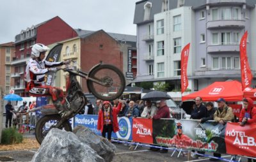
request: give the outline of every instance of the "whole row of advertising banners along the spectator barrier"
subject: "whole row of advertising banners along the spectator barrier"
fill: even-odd
[[[98,115],[76,115],[74,127],[81,124],[101,135],[97,130],[97,120]],[[236,122],[223,125],[212,121],[127,117],[118,117],[118,124],[120,131],[113,133],[112,137],[120,140],[256,157],[256,124],[242,127]]]

